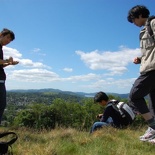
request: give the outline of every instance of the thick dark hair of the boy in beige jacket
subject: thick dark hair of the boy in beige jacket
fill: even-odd
[[[139,15],[141,15],[142,18],[148,18],[150,11],[143,5],[136,5],[129,10],[127,19],[130,23],[133,23],[132,20],[139,18]]]

